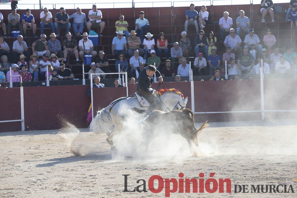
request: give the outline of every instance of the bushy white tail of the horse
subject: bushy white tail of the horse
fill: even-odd
[[[109,112],[109,106],[97,111],[97,115],[92,120],[89,129],[95,134],[108,133],[112,126],[112,118]]]

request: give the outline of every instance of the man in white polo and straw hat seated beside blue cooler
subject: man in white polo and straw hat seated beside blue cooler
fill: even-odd
[[[85,54],[91,54],[95,58],[97,55],[97,52],[94,51],[94,45],[93,42],[88,39],[88,33],[84,32],[83,33],[83,39],[79,40],[78,42],[78,47],[79,47],[79,56],[83,60],[83,64],[85,64]]]

